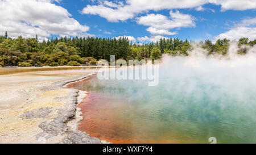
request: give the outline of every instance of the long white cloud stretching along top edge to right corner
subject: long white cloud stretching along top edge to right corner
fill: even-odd
[[[109,22],[118,22],[133,19],[137,14],[149,10],[196,8],[199,11],[214,12],[212,9],[202,7],[207,3],[221,5],[222,11],[256,9],[255,0],[126,0],[125,5],[118,2],[100,1],[98,5],[87,5],[81,13],[99,15]]]

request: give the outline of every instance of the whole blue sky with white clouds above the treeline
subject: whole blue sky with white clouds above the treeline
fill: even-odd
[[[0,0],[0,35],[256,39],[256,0]]]

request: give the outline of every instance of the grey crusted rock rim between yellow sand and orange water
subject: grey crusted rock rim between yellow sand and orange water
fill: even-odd
[[[77,82],[82,79],[88,78],[90,74],[79,78],[68,79],[65,81],[55,82],[51,86],[44,87],[44,90],[61,89],[65,85]],[[66,88],[67,89],[67,88]],[[65,98],[67,103],[63,109],[58,111],[59,116],[51,122],[42,122],[39,127],[43,132],[36,135],[36,140],[49,139],[57,135],[63,136],[63,140],[59,143],[64,144],[100,144],[102,141],[95,137],[90,137],[85,132],[77,130],[78,123],[82,119],[80,116],[80,110],[77,106],[82,102],[82,99],[86,97],[85,91],[71,89],[71,93]]]

